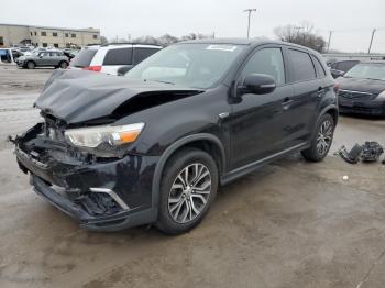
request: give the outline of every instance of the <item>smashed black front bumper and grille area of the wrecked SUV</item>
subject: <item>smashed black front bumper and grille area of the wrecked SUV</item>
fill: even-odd
[[[76,129],[67,130],[75,135],[70,140],[63,121],[44,117],[44,123],[11,140],[19,167],[30,173],[36,193],[91,230],[153,222],[147,179],[156,157],[129,154],[124,145],[76,146]],[[84,135],[77,140],[86,141]]]

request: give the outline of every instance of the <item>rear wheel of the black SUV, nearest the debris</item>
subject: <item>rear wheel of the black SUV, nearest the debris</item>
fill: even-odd
[[[331,114],[323,114],[317,125],[317,133],[310,142],[310,147],[301,151],[305,159],[320,162],[329,153],[334,135],[334,119]]]

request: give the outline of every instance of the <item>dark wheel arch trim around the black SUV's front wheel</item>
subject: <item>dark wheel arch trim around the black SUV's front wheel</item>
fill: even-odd
[[[173,143],[161,156],[154,171],[153,182],[152,182],[152,208],[154,211],[154,217],[157,218],[158,212],[158,201],[160,201],[160,187],[162,173],[167,164],[167,160],[179,149],[185,147],[196,147],[208,152],[218,165],[219,175],[226,170],[226,153],[222,142],[215,135],[209,133],[199,133],[194,135],[188,135],[179,139]]]

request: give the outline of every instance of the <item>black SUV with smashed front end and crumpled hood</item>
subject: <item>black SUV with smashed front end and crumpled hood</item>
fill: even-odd
[[[183,233],[219,185],[301,152],[321,160],[338,120],[321,56],[282,42],[169,46],[124,77],[57,70],[44,123],[12,141],[34,190],[91,230]]]

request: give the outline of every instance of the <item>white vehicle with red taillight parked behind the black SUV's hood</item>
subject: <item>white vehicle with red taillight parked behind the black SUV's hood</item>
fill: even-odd
[[[161,46],[142,44],[87,46],[70,62],[70,68],[118,75],[120,68],[125,73],[160,49]]]

